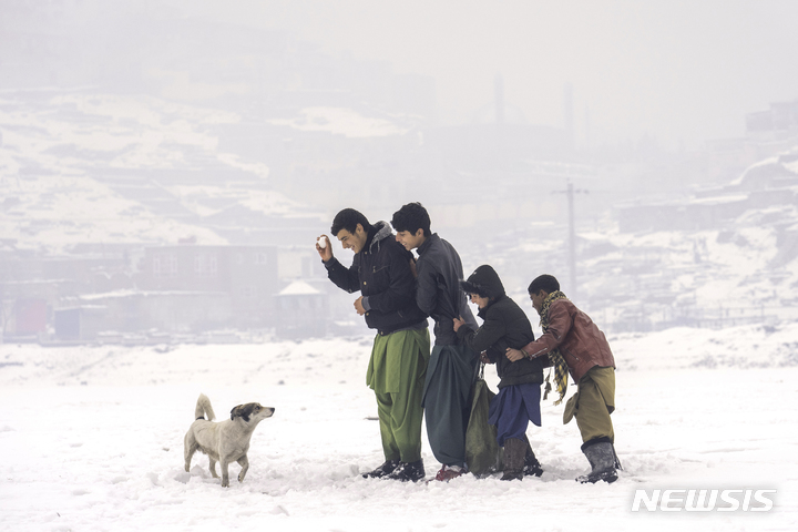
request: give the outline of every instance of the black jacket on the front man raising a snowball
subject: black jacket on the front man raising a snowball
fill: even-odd
[[[332,257],[325,263],[327,277],[339,288],[368,297],[366,325],[380,335],[412,327],[426,327],[427,315],[416,305],[416,278],[410,269],[412,254],[396,242],[390,226],[377,222],[366,245],[346,268]]]

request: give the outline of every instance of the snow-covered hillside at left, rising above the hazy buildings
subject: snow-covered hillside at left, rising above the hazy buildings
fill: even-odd
[[[0,93],[0,238],[60,253],[85,243],[198,244],[226,239],[208,217],[237,205],[301,208],[268,188],[268,168],[218,150],[223,111],[150,96]]]

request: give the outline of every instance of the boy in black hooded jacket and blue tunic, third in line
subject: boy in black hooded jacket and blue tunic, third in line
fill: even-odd
[[[520,349],[534,341],[532,325],[521,307],[507,296],[491,266],[478,267],[460,286],[479,307],[478,316],[483,324],[474,330],[462,319],[456,319],[458,338],[482,354],[482,361],[495,364],[500,378],[489,422],[495,424],[497,441],[504,448],[501,480],[521,480],[524,474],[540,477],[543,470],[526,438],[526,428],[530,421],[541,426],[543,365],[529,358],[511,361],[505,355],[508,348]]]

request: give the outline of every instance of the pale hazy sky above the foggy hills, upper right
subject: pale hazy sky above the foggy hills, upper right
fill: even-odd
[[[177,2],[178,0],[173,0]],[[674,147],[740,136],[745,114],[798,99],[794,0],[200,0],[191,12],[295,31],[332,53],[434,76],[447,123],[505,101],[577,139]]]

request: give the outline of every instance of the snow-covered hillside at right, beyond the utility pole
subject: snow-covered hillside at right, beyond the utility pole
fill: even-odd
[[[797,161],[792,150],[727,185],[637,206],[636,217],[615,206],[615,216],[577,233],[575,300],[615,332],[795,320]],[[519,301],[541,273],[571,291],[566,248],[551,228],[509,232],[474,255],[493,260]]]

